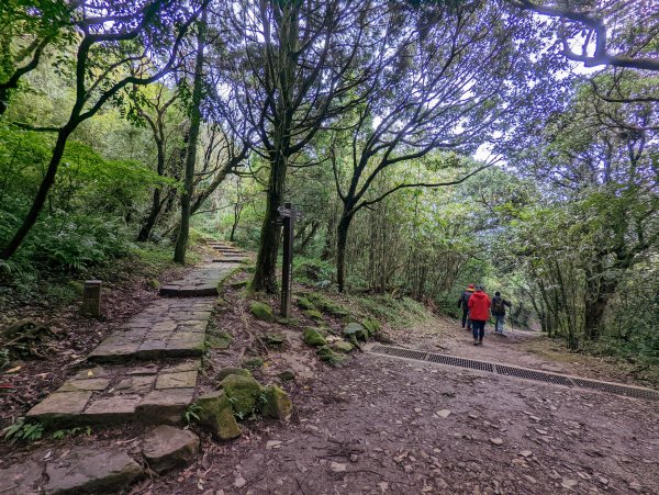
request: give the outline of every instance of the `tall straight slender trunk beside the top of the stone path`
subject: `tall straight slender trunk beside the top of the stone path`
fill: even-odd
[[[188,237],[190,234],[190,216],[192,194],[194,193],[194,166],[197,165],[197,142],[199,140],[199,128],[201,125],[201,97],[203,85],[203,46],[205,43],[205,10],[199,23],[197,34],[197,56],[194,58],[194,81],[192,86],[192,109],[190,113],[190,139],[188,142],[188,155],[186,158],[186,180],[183,194],[181,196],[181,222],[174,251],[174,261],[186,265],[186,252],[188,250]]]

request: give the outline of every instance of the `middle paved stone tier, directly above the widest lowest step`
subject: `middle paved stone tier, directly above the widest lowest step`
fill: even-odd
[[[201,356],[214,304],[210,297],[156,301],[113,331],[88,359],[118,362]]]

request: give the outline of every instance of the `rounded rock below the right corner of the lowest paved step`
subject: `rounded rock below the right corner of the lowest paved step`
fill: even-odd
[[[199,437],[190,430],[160,425],[144,439],[142,454],[158,474],[190,465],[199,452]]]

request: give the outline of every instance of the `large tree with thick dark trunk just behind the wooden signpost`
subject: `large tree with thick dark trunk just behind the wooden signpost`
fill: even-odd
[[[323,125],[355,104],[353,91],[367,67],[357,66],[370,1],[242,1],[228,5],[233,38],[226,57],[225,106],[237,108],[255,134],[254,153],[269,165],[267,205],[253,280],[257,291],[275,292],[280,229],[289,167]],[[382,5],[379,5],[382,7]],[[231,64],[231,66],[230,66]],[[237,69],[236,69],[237,68]],[[236,130],[239,131],[239,130]],[[245,135],[245,134],[244,134]],[[309,165],[309,164],[306,164]]]

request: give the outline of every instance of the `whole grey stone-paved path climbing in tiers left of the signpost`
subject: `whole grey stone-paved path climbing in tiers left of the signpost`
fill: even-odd
[[[172,283],[181,290],[170,294],[182,299],[157,300],[112,333],[88,357],[90,367],[34,406],[27,418],[48,427],[179,423],[194,396],[213,296],[237,267],[205,265]],[[199,292],[206,296],[190,297]]]

